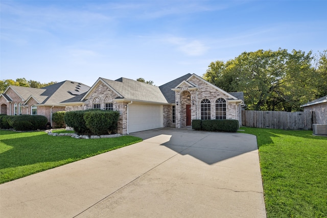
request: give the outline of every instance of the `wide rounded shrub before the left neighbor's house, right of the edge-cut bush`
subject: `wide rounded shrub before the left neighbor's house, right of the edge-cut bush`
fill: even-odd
[[[48,123],[48,118],[42,115],[23,114],[9,119],[9,125],[18,131],[44,130],[46,123]]]

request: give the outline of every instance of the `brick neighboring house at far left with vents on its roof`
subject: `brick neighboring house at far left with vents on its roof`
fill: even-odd
[[[43,88],[9,86],[0,94],[0,114],[43,115],[52,124],[52,114],[65,110],[60,102],[85,93],[89,88],[73,81],[63,81]]]

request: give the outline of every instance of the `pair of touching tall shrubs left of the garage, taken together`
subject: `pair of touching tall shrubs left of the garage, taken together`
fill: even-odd
[[[64,122],[74,128],[78,134],[106,135],[114,134],[118,128],[118,111],[99,109],[67,111]]]

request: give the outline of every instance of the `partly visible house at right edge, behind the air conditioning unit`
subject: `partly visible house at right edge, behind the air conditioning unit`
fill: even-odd
[[[315,112],[313,124],[327,125],[327,95],[312,102],[308,102],[307,104],[301,105],[301,107],[303,107],[303,111]]]

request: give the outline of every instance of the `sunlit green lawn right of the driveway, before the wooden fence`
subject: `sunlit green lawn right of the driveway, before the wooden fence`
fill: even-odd
[[[327,137],[241,129],[257,137],[268,218],[327,217]]]

